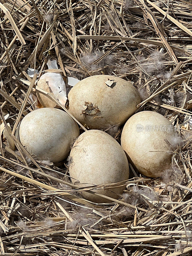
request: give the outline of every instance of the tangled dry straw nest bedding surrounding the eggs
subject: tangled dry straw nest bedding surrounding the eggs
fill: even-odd
[[[182,124],[192,114],[192,3],[1,0],[0,8],[0,255],[191,255],[192,135]],[[40,74],[54,59],[64,76],[130,80],[138,111],[177,127],[180,145],[164,177],[132,170],[119,200],[95,205],[70,187],[67,161],[54,166],[28,154],[14,136],[38,107],[37,75],[27,70]]]

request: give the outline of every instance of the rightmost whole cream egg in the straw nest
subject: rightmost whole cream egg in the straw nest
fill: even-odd
[[[124,125],[121,146],[141,174],[160,177],[170,167],[172,146],[177,138],[174,126],[166,117],[142,111]]]

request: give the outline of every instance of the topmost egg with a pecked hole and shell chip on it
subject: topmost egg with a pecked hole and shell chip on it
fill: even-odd
[[[85,102],[92,105],[92,112],[89,109],[86,114]],[[139,103],[140,95],[130,82],[116,76],[97,75],[73,86],[68,93],[67,107],[81,124],[105,130],[125,123]]]

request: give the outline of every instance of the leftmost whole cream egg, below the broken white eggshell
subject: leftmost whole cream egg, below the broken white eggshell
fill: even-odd
[[[66,112],[40,108],[23,118],[16,136],[31,155],[54,163],[68,156],[71,143],[79,136],[79,128]]]

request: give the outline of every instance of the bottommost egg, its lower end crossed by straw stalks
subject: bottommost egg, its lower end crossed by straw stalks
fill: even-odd
[[[129,165],[123,148],[109,134],[90,130],[82,133],[74,142],[69,156],[71,181],[78,187],[109,184],[129,179]],[[118,186],[118,185],[117,185]],[[92,190],[112,198],[123,193],[125,187]],[[114,193],[114,192],[116,193]],[[92,202],[109,202],[105,198],[87,192],[81,195]]]

